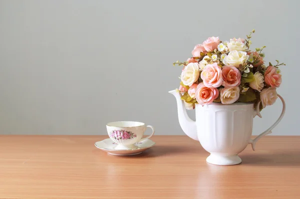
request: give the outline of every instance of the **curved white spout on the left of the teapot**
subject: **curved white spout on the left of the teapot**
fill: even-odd
[[[183,132],[194,140],[199,140],[197,136],[196,122],[189,118],[186,112],[185,105],[181,99],[181,94],[176,90],[170,90],[169,93],[176,97],[178,120]]]

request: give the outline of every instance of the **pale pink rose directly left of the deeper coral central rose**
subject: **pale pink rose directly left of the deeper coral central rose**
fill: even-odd
[[[215,62],[207,64],[201,72],[201,79],[206,87],[218,87],[222,84],[222,69]]]

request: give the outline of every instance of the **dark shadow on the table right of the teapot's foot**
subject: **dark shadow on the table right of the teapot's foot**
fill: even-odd
[[[268,154],[240,154],[242,164],[269,165],[269,166],[299,166],[300,151],[273,152]]]

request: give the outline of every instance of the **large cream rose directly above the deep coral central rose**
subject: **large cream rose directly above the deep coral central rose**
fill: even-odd
[[[229,52],[227,56],[225,56],[225,58],[223,59],[223,63],[225,65],[233,65],[235,67],[238,67],[239,64],[243,64],[248,59],[248,57],[249,55],[247,54],[247,52],[233,50]]]

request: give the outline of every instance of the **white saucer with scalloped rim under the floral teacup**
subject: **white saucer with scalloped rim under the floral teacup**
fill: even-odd
[[[117,146],[117,143],[113,142],[110,138],[95,142],[95,146],[97,148],[100,148],[112,155],[136,155],[152,147],[154,144],[155,142],[151,139],[145,139],[141,142],[135,143],[134,145],[137,146],[135,149],[114,149]]]

